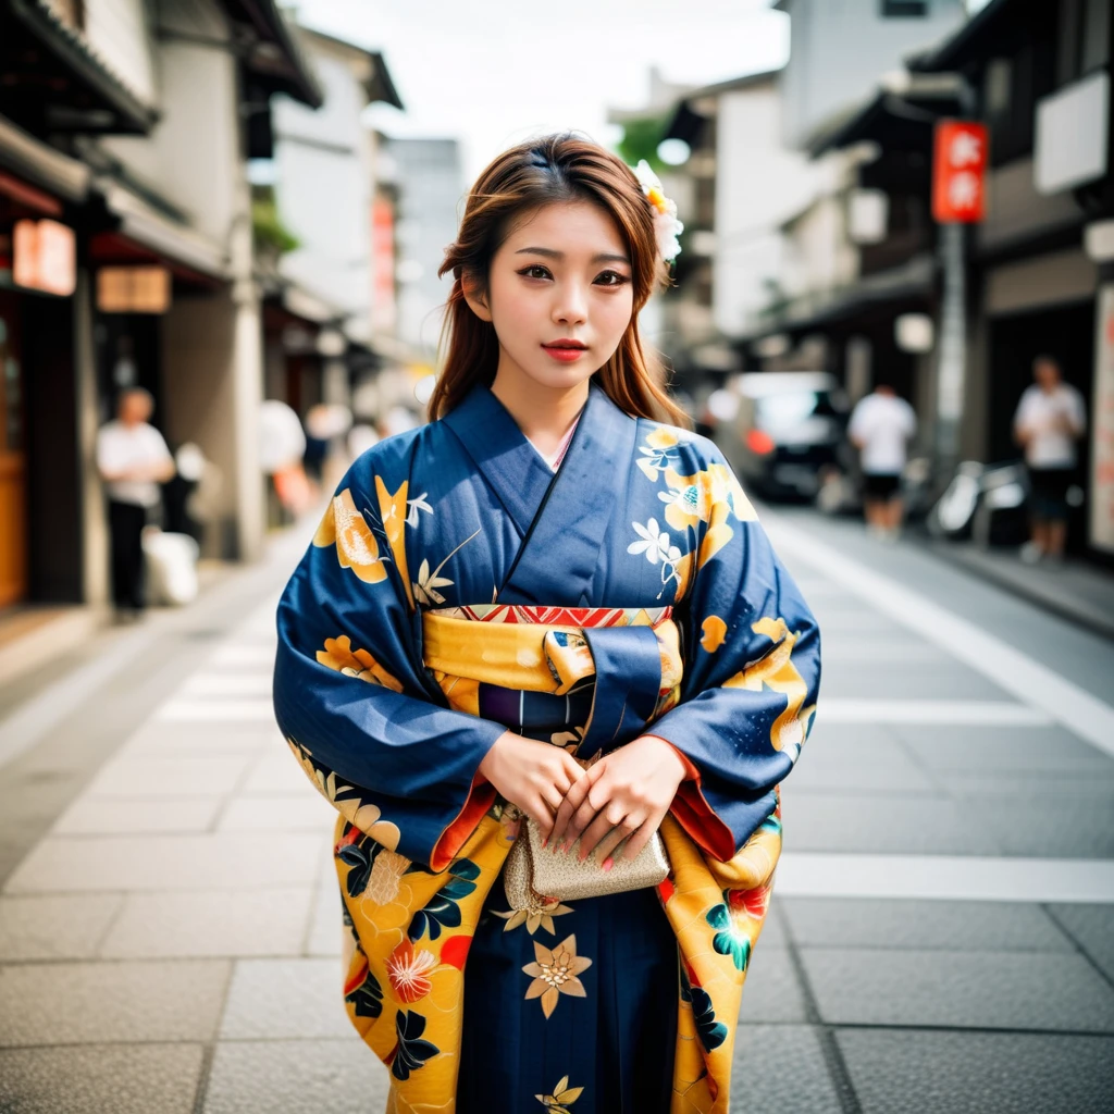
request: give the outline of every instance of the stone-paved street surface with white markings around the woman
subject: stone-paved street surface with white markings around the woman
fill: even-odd
[[[1114,644],[915,543],[763,518],[824,678],[732,1110],[1114,1110]],[[382,1111],[333,812],[271,713],[305,540],[0,701],[3,1114]]]

